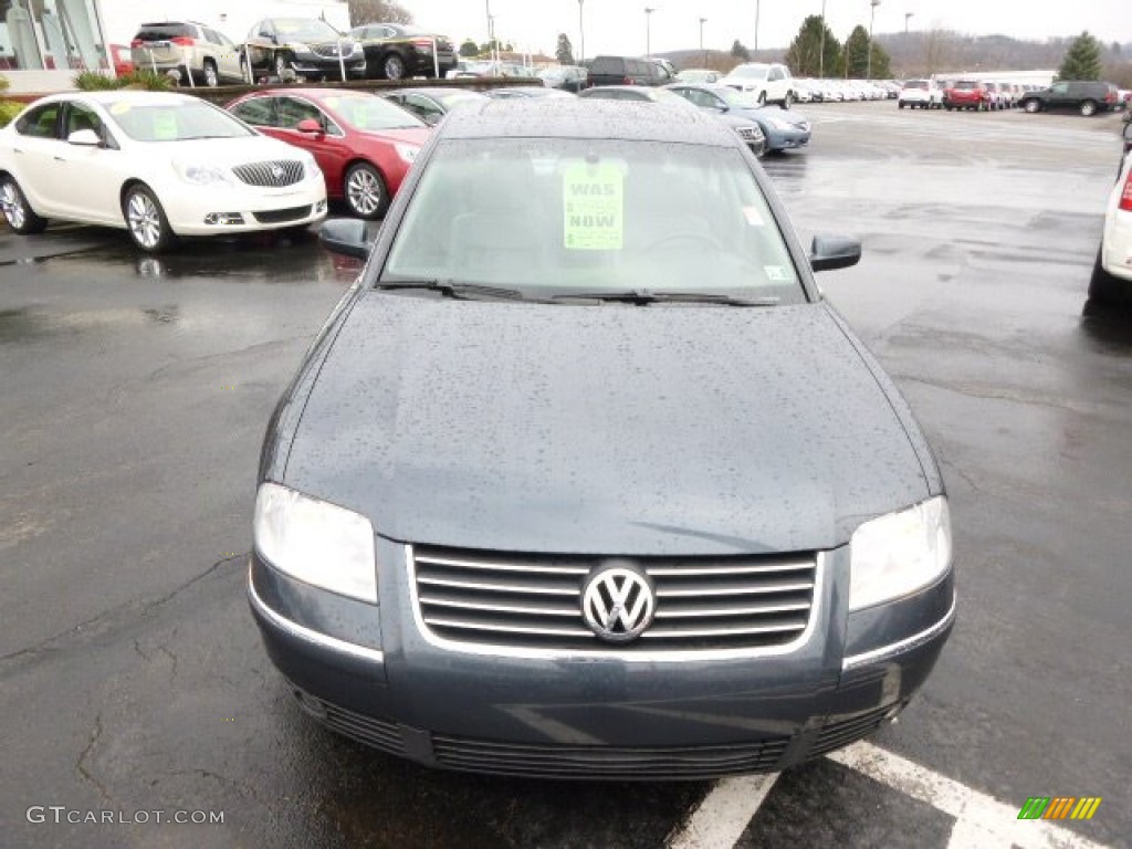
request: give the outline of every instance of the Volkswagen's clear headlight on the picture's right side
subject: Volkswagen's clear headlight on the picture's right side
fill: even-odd
[[[849,542],[849,609],[891,601],[935,583],[951,567],[947,499],[929,498],[858,528]]]

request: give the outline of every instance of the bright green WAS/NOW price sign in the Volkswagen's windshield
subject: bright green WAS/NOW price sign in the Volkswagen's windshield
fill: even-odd
[[[563,172],[566,250],[620,250],[625,243],[625,178],[614,164],[578,163]]]

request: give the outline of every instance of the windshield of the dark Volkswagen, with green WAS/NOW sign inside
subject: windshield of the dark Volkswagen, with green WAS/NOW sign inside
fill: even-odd
[[[618,139],[441,143],[378,285],[412,281],[805,301],[738,148]]]

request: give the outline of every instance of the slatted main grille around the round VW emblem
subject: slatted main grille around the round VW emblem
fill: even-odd
[[[813,554],[631,559],[652,578],[655,618],[635,642],[607,643],[586,626],[583,584],[599,557],[415,548],[417,611],[443,640],[523,650],[633,653],[787,651],[809,623]]]

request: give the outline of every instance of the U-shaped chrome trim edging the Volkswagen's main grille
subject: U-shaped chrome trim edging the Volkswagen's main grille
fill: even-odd
[[[825,560],[826,552],[818,551],[814,563],[814,603],[809,609],[809,619],[805,629],[798,637],[784,645],[775,645],[763,649],[706,649],[704,651],[663,651],[646,650],[633,652],[619,652],[616,649],[604,651],[589,651],[578,649],[516,649],[511,645],[494,645],[489,643],[463,643],[435,634],[424,623],[421,612],[420,598],[417,592],[417,558],[413,555],[412,543],[405,547],[405,574],[409,578],[410,607],[413,611],[413,621],[419,633],[429,645],[445,651],[461,652],[464,654],[478,654],[481,657],[495,658],[525,658],[531,660],[609,660],[626,663],[687,663],[704,660],[747,660],[752,658],[774,658],[791,654],[809,642],[817,628],[817,623],[824,620],[822,615],[822,593],[825,588]],[[581,617],[581,612],[578,612]]]

